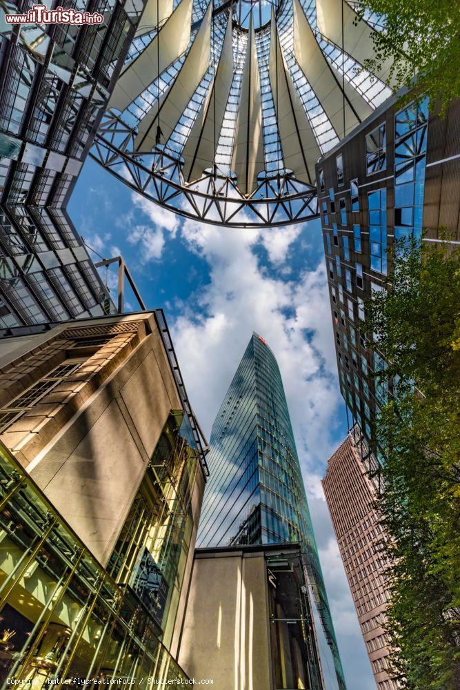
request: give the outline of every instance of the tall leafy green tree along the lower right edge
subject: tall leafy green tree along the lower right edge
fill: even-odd
[[[392,668],[410,690],[460,687],[460,253],[397,246],[390,289],[366,304],[390,389],[374,422],[389,535]]]

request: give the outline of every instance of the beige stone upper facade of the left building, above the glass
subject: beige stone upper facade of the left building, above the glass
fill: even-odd
[[[3,414],[49,389],[0,440],[106,565],[168,415],[182,408],[154,314],[62,324],[3,341],[0,353]]]

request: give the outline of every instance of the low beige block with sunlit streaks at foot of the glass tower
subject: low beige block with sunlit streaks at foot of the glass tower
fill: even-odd
[[[217,690],[323,687],[299,544],[195,551],[179,663]]]

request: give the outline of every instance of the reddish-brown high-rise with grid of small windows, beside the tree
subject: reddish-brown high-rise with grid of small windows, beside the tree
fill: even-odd
[[[385,631],[385,534],[376,510],[377,489],[361,455],[348,436],[330,457],[322,484],[377,688],[395,690],[400,686],[388,675]]]

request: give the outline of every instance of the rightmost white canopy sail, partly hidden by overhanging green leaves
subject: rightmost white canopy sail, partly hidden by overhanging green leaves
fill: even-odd
[[[343,6],[343,50],[361,65],[374,56],[374,29],[366,21],[357,20],[357,14],[345,0],[317,0],[318,28],[326,39],[342,47],[342,6]],[[372,72],[387,83],[392,61],[383,62],[381,69]],[[391,81],[388,84],[391,86]]]

